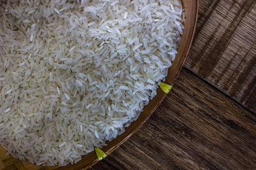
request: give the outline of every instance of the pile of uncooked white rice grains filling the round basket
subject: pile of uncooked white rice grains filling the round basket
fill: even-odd
[[[0,1],[0,141],[63,166],[125,131],[182,34],[179,0]]]

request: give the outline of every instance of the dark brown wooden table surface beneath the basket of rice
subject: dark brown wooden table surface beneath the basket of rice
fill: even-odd
[[[256,169],[255,42],[255,0],[201,0],[172,92],[92,169]]]

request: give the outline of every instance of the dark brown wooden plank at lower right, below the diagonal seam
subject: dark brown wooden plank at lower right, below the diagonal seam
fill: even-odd
[[[145,125],[92,169],[255,169],[255,122],[250,111],[183,69]]]

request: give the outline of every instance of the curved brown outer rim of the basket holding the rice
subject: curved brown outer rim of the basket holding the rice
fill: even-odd
[[[191,0],[186,0],[186,1],[191,1]],[[177,62],[179,64],[177,64],[176,69],[173,73],[173,66],[170,67],[168,69],[168,75],[166,76],[166,80],[164,81],[165,83],[168,83],[169,85],[173,85],[174,81],[177,79],[177,77],[179,76],[179,73],[182,69],[182,66],[184,65],[184,62],[186,60],[186,58],[188,57],[188,53],[189,50],[191,48],[192,42],[193,42],[193,38],[195,36],[195,30],[196,30],[196,23],[197,23],[197,19],[198,19],[198,7],[199,7],[199,0],[193,0],[193,4],[195,4],[194,9],[192,9],[193,13],[192,13],[192,17],[193,20],[191,20],[191,25],[188,25],[190,27],[186,28],[185,25],[185,29],[188,29],[188,41],[183,41],[184,37],[182,35],[181,41],[180,41],[180,45],[183,43],[184,46],[184,52],[182,52],[180,54],[180,47],[178,49],[178,53],[177,56],[175,57],[175,60],[173,61],[173,63]],[[184,4],[182,4],[183,6]],[[188,9],[184,9],[185,11]],[[174,65],[174,64],[173,64]],[[124,143],[127,139],[129,139],[136,131],[138,131],[138,129],[140,129],[140,127],[147,121],[147,119],[152,115],[152,113],[156,110],[156,108],[159,106],[159,104],[162,103],[163,99],[166,97],[166,93],[163,92],[163,90],[161,90],[160,88],[157,89],[157,95],[148,103],[148,105],[150,105],[150,103],[152,102],[156,102],[154,103],[154,106],[152,106],[150,108],[150,111],[145,110],[145,108],[148,107],[145,106],[145,108],[143,109],[143,112],[140,113],[140,116],[138,117],[137,120],[135,120],[134,122],[131,122],[131,125],[129,125],[129,127],[125,128],[125,132],[123,134],[120,134],[119,136],[116,137],[116,139],[113,139],[112,141],[107,141],[106,144],[107,146],[103,146],[101,149],[102,151],[104,151],[106,153],[106,155],[109,155],[111,152],[113,152],[116,148],[118,148],[120,145],[122,145],[122,143]],[[145,115],[145,112],[147,112],[147,115]],[[133,126],[134,124],[138,124],[136,126]],[[127,129],[129,129],[131,132],[127,133]],[[131,130],[132,129],[132,130]],[[90,168],[93,165],[95,165],[99,159],[96,156],[95,151],[89,153],[88,155],[84,155],[82,157],[83,159],[89,159],[90,163],[84,163],[83,161],[79,161],[76,163],[76,168]],[[89,161],[88,161],[89,162]],[[63,166],[63,167],[58,167],[58,169],[73,169],[72,165],[68,164],[67,166]]]

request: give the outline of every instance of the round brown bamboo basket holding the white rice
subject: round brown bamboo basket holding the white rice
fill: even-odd
[[[168,71],[168,76],[166,76],[165,83],[172,85],[177,76],[179,75],[180,69],[182,68],[184,61],[188,55],[189,48],[193,41],[193,36],[195,33],[196,19],[198,15],[198,3],[199,0],[182,0],[182,6],[185,11],[185,22],[184,22],[184,32],[182,39],[180,41],[180,46],[175,60],[173,61],[172,67]],[[125,132],[118,136],[113,141],[107,142],[108,146],[104,146],[102,150],[109,155],[118,146],[120,146],[124,141],[136,132],[141,125],[143,125],[148,117],[156,110],[157,106],[163,101],[166,93],[160,88],[157,89],[157,95],[148,103],[140,114],[140,117],[131,123],[129,127],[125,129]],[[99,161],[95,152],[91,152],[88,155],[84,155],[82,159],[76,164],[68,164],[64,167],[42,167],[36,166],[35,164],[29,164],[27,161],[20,161],[15,159],[10,155],[6,155],[6,150],[0,146],[0,169],[83,169],[92,167]]]

